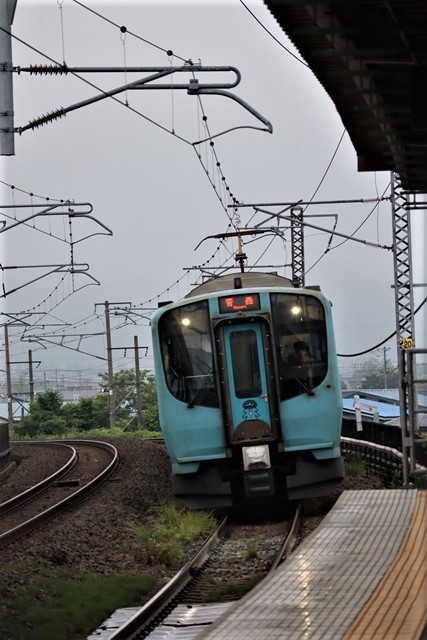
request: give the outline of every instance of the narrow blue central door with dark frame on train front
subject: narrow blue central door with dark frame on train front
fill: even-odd
[[[271,350],[265,324],[253,321],[219,329],[225,422],[231,443],[270,440],[276,435]]]

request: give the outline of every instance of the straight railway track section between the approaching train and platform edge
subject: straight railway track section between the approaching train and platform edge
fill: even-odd
[[[275,525],[275,535],[262,534],[265,525],[230,524],[225,519],[187,564],[149,602],[138,609],[117,611],[90,640],[131,640],[166,637],[171,627],[188,626],[185,637],[211,624],[273,571],[294,547],[302,520],[292,517]],[[267,539],[268,537],[268,539]],[[250,560],[253,560],[251,563]],[[242,565],[248,567],[242,569]]]

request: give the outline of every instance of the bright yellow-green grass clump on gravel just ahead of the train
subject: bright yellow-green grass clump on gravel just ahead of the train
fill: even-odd
[[[167,566],[182,560],[186,546],[214,531],[215,518],[171,503],[153,509],[146,524],[134,525],[135,554]]]

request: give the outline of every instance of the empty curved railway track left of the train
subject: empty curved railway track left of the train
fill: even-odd
[[[0,548],[83,500],[110,477],[119,461],[117,449],[106,442],[63,440],[25,444],[64,447],[69,459],[55,473],[0,504]]]

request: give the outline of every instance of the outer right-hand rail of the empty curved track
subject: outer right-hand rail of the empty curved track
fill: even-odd
[[[113,473],[119,463],[119,453],[113,445],[100,442],[96,440],[65,440],[64,444],[67,445],[81,445],[81,446],[94,446],[107,451],[111,456],[111,461],[108,466],[101,471],[95,478],[90,480],[80,489],[77,489],[74,493],[67,496],[63,500],[60,500],[56,504],[52,505],[48,509],[45,509],[41,513],[35,515],[34,517],[22,522],[17,525],[13,529],[6,531],[5,533],[0,535],[0,548],[6,546],[10,542],[16,540],[21,535],[28,533],[32,529],[35,529],[40,524],[50,520],[53,516],[66,511],[70,507],[76,505],[78,502],[86,498],[92,491],[97,489],[101,484],[103,484]],[[77,452],[76,452],[77,453]]]

